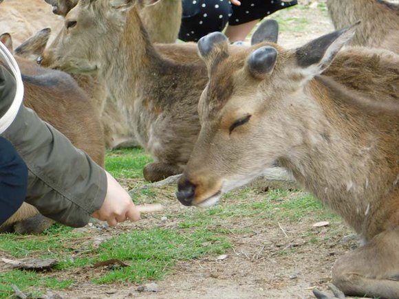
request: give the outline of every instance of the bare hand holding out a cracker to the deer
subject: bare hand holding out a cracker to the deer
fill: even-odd
[[[107,171],[105,173],[107,174],[107,195],[105,196],[103,206],[101,206],[100,210],[94,212],[92,216],[101,221],[107,221],[111,226],[127,220],[138,221],[140,219],[140,212],[134,206],[129,194],[114,177],[107,173]]]

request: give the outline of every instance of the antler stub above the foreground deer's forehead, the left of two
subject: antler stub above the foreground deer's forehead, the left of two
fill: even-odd
[[[228,39],[221,32],[213,32],[200,38],[198,50],[208,67],[228,56]]]

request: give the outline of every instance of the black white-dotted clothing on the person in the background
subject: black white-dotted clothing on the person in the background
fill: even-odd
[[[296,0],[241,0],[241,5],[236,6],[229,0],[183,0],[179,38],[182,41],[198,41],[208,33],[222,31],[227,23],[239,25],[263,19],[296,3]]]

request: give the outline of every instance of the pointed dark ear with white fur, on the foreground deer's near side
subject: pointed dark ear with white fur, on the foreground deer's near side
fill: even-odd
[[[313,78],[330,66],[338,51],[349,41],[360,21],[354,25],[326,34],[296,49],[296,63]]]

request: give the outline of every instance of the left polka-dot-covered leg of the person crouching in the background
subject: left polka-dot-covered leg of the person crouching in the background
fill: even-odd
[[[222,31],[231,13],[229,0],[183,0],[179,39],[198,41],[208,33]]]

